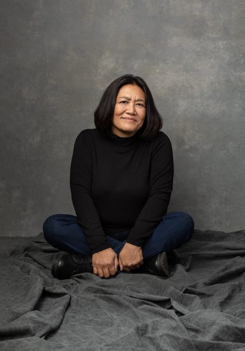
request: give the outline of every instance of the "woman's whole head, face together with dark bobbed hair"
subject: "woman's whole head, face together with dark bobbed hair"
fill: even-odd
[[[162,127],[162,119],[146,82],[140,77],[124,75],[105,90],[94,113],[96,128],[108,126],[122,137],[140,131],[140,138],[150,140]]]

